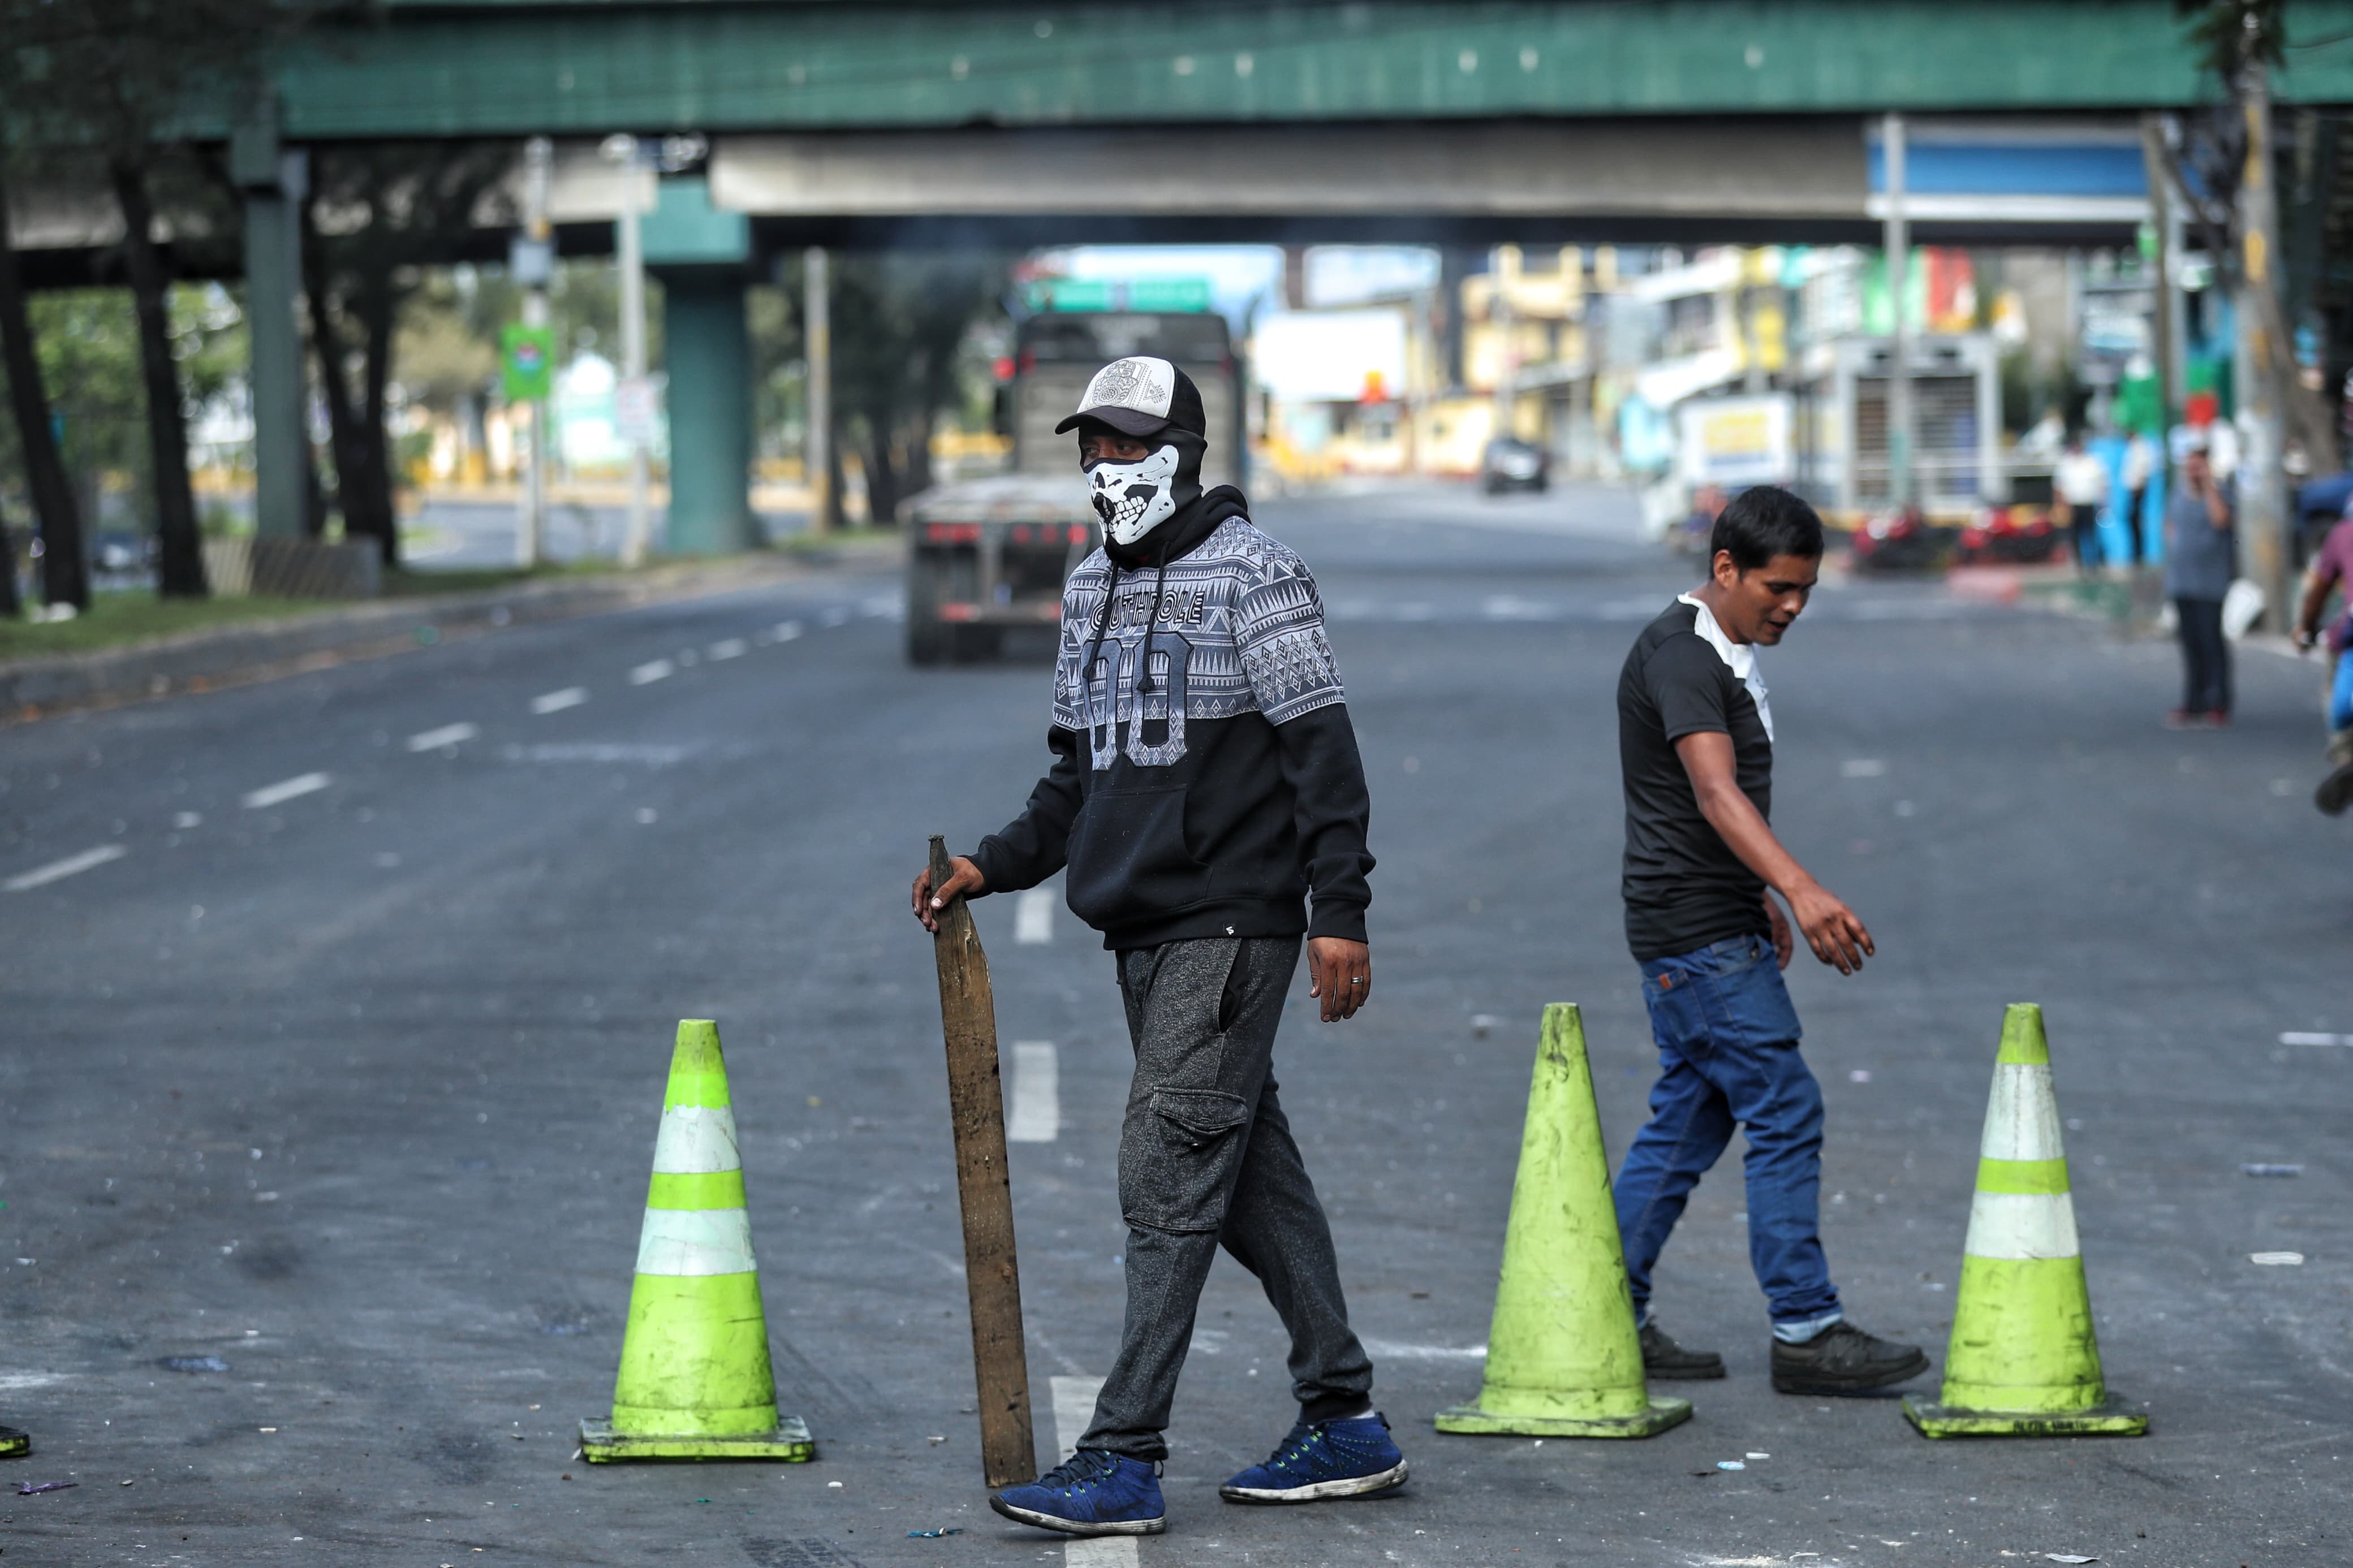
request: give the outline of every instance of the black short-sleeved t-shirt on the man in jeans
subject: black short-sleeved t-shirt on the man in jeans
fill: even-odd
[[[1767,936],[1765,879],[1699,813],[1675,741],[1732,736],[1741,795],[1772,818],[1772,738],[1748,686],[1675,602],[1642,628],[1619,675],[1619,769],[1626,778],[1626,943],[1638,961]]]

